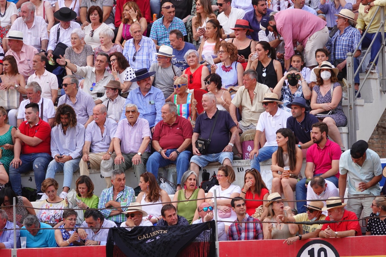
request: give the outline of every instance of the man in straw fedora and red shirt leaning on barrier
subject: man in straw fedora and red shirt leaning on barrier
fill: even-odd
[[[322,208],[322,211],[328,211],[328,216],[325,220],[337,222],[323,224],[319,232],[319,237],[354,237],[362,235],[359,221],[357,221],[357,215],[352,211],[345,210],[345,205],[339,197],[330,197],[327,199],[326,207]]]

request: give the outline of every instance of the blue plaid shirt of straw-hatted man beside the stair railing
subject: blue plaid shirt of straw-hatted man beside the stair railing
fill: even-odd
[[[326,43],[327,50],[331,52],[331,63],[334,63],[337,59],[346,59],[347,53],[354,52],[360,40],[361,32],[352,26],[346,27],[342,35],[338,30]],[[361,49],[362,47],[359,46],[358,50],[361,51]]]

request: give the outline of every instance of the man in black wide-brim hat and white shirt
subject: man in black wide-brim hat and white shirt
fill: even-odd
[[[58,43],[61,42],[66,46],[71,46],[71,33],[74,29],[80,29],[79,23],[72,21],[76,18],[76,12],[68,7],[60,8],[54,13],[54,17],[60,22],[51,28],[49,34],[47,57],[52,58],[54,57],[52,52],[55,50]]]

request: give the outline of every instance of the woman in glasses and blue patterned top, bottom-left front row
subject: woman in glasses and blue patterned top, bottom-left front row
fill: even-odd
[[[78,226],[75,225],[77,216],[78,214],[74,210],[63,211],[62,217],[64,224],[55,230],[57,247],[85,245],[85,243],[80,240],[77,232]]]

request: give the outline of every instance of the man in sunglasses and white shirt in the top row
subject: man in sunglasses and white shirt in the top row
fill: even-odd
[[[225,39],[226,41],[235,37],[235,32],[230,28],[235,26],[236,20],[242,19],[245,15],[245,11],[243,9],[231,7],[231,2],[232,0],[217,0],[218,11],[221,12],[217,16],[217,20],[220,22],[220,25],[224,30],[222,39]]]

